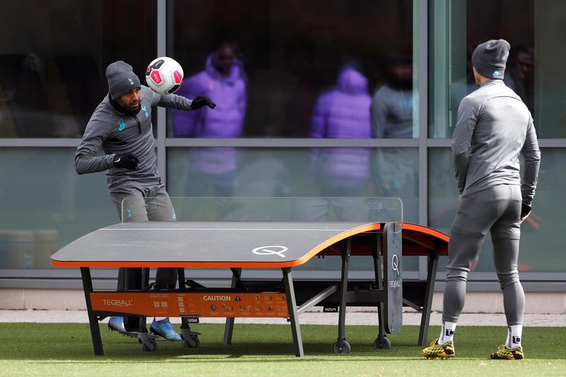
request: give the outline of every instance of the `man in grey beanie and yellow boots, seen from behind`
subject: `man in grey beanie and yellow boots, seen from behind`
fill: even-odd
[[[531,113],[503,82],[509,56],[506,40],[488,40],[472,55],[475,83],[480,87],[463,98],[452,139],[460,204],[452,224],[446,266],[441,333],[422,355],[451,358],[456,323],[466,298],[470,266],[487,232],[503,291],[507,337],[490,357],[524,359],[524,291],[517,260],[521,222],[531,213],[541,153]],[[524,156],[521,180],[519,153]]]

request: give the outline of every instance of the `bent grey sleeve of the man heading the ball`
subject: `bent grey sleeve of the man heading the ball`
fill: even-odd
[[[83,139],[81,139],[75,153],[76,173],[96,173],[114,166],[112,163],[114,154],[96,156],[103,141],[108,137],[108,132],[108,122],[96,118],[91,118],[88,121]]]

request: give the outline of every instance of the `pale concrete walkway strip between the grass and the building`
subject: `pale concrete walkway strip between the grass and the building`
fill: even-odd
[[[377,313],[357,311],[348,308],[347,325],[375,325]],[[304,325],[336,325],[337,313],[321,313],[310,311],[301,314],[301,324]],[[180,318],[171,318],[173,323],[180,323]],[[0,323],[88,323],[86,311],[40,311],[40,310],[0,310]],[[108,322],[103,320],[103,322]],[[224,323],[224,318],[202,318],[201,323]],[[284,318],[236,318],[236,323],[273,323],[287,324]],[[430,325],[440,325],[441,313],[433,312]],[[406,311],[403,313],[403,325],[420,325],[420,313]],[[502,313],[462,313],[458,325],[468,326],[506,326],[505,315]],[[525,326],[566,326],[566,314],[525,314]]]

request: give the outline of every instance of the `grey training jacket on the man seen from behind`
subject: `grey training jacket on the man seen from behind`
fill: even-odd
[[[521,152],[525,158],[523,182]],[[452,155],[462,195],[495,185],[521,185],[523,202],[533,202],[541,163],[533,118],[521,98],[502,80],[485,81],[463,98]]]

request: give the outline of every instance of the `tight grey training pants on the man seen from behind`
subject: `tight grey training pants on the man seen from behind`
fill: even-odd
[[[507,325],[523,323],[525,295],[517,270],[521,199],[519,185],[497,185],[462,197],[450,232],[442,320],[458,322],[468,272],[490,231]]]

